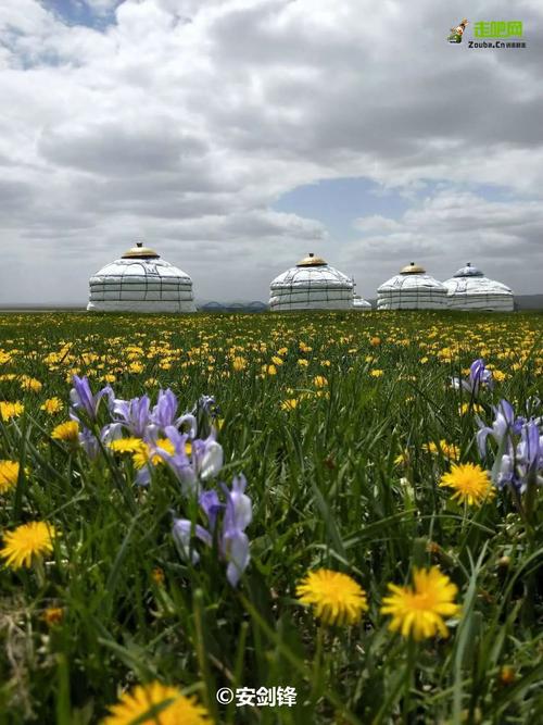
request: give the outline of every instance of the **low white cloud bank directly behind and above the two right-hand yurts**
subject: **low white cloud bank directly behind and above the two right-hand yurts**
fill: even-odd
[[[369,295],[411,261],[422,263],[439,279],[472,261],[517,291],[541,289],[540,201],[489,201],[446,188],[426,197],[400,220],[374,215],[355,220],[354,226],[363,234],[342,249],[341,261],[358,273]]]

